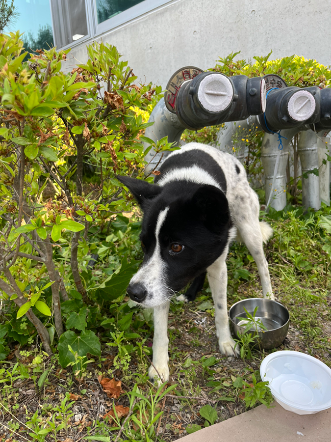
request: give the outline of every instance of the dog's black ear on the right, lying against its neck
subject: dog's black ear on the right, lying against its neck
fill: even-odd
[[[225,194],[214,186],[202,186],[193,196],[197,214],[208,230],[221,233],[229,223],[229,204]]]

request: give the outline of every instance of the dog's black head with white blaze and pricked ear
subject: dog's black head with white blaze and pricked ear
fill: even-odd
[[[225,194],[214,186],[173,182],[157,186],[119,176],[144,212],[144,261],[127,293],[144,307],[169,300],[203,273],[228,244],[230,217]]]

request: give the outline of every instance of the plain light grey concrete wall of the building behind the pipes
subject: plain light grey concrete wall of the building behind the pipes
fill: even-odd
[[[250,59],[272,49],[271,58],[296,54],[329,65],[330,22],[331,0],[173,0],[100,37],[141,82],[164,88],[180,67],[205,70],[236,51]],[[72,49],[65,70],[86,61],[85,44]]]

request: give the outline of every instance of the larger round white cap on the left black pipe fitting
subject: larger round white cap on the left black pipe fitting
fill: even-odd
[[[224,111],[231,103],[232,98],[232,83],[223,74],[207,75],[199,84],[198,99],[207,111]]]

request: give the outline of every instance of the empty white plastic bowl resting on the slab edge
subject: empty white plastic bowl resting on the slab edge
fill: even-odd
[[[315,414],[331,407],[331,369],[301,352],[280,351],[263,359],[262,381],[285,410]]]

